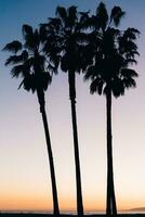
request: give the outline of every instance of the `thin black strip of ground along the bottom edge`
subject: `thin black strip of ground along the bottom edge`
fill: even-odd
[[[106,215],[84,215],[84,217],[105,217]],[[118,214],[118,217],[145,217],[145,214]],[[54,217],[52,214],[24,214],[24,213],[0,213],[0,217]],[[61,214],[60,217],[77,217],[76,215]]]

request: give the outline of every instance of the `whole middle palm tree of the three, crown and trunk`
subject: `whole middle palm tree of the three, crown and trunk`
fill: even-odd
[[[67,10],[62,7],[56,9],[56,17],[50,18],[49,24],[43,24],[48,29],[45,42],[45,52],[51,47],[61,55],[61,69],[68,73],[69,99],[71,106],[75,164],[76,164],[76,186],[77,186],[77,210],[78,215],[83,215],[81,174],[79,159],[77,114],[76,114],[76,72],[79,73],[82,67],[82,41],[84,34],[81,33],[78,12],[76,7]],[[51,40],[50,40],[51,39]]]

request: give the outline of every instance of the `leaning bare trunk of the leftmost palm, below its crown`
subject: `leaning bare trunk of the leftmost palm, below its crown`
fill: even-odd
[[[44,132],[45,132],[45,140],[47,140],[47,148],[48,148],[48,155],[49,155],[49,161],[50,161],[52,195],[53,195],[53,213],[55,216],[58,216],[60,208],[58,208],[58,200],[57,200],[57,189],[56,189],[53,154],[52,154],[52,148],[51,148],[51,139],[50,139],[48,119],[47,119],[47,114],[45,114],[44,92],[38,90],[37,95],[38,95],[38,101],[40,104],[40,113],[42,114],[42,120],[43,120],[43,127],[44,127]]]

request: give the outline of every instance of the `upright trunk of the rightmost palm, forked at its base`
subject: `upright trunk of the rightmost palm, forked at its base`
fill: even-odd
[[[111,91],[106,94],[107,106],[107,216],[117,216],[115,187],[114,187],[114,168],[113,168],[113,136],[111,136]]]

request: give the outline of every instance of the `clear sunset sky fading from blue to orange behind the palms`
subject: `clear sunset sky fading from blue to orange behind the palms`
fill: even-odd
[[[114,166],[119,209],[145,206],[145,1],[106,0],[127,12],[120,28],[135,27],[140,77],[137,88],[113,102]],[[12,4],[13,3],[13,4]],[[0,50],[22,39],[22,25],[37,27],[54,16],[56,5],[95,10],[96,0],[0,0]],[[17,91],[21,79],[4,66],[0,53],[0,209],[52,210],[50,169],[39,105],[35,94]],[[47,114],[62,210],[76,208],[75,162],[67,75],[60,72],[47,94]],[[85,210],[105,208],[106,196],[105,98],[90,95],[89,82],[77,77],[77,115]]]

